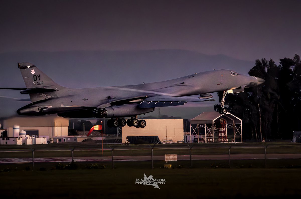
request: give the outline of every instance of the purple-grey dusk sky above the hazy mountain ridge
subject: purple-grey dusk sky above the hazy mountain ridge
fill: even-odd
[[[182,49],[240,60],[301,54],[301,2],[1,1],[0,53]]]

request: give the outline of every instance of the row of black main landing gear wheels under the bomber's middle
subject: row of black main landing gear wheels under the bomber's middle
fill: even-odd
[[[132,117],[129,119],[124,118],[116,118],[116,119],[109,119],[107,122],[108,127],[124,127],[128,125],[129,127],[136,127],[136,128],[144,128],[146,127],[146,121],[145,120],[138,120],[137,116]]]

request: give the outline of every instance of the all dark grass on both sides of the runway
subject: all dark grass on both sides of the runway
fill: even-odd
[[[300,144],[292,143],[238,143],[193,144],[192,155],[264,153],[301,153]],[[82,143],[54,145],[0,145],[0,158],[32,157],[31,152],[18,152],[36,148],[35,157],[101,156],[101,145]],[[151,155],[152,145],[104,145],[114,150],[115,156]],[[170,147],[170,148],[168,148]],[[132,150],[146,148],[147,150]],[[160,149],[165,148],[165,149]],[[167,148],[167,149],[166,149]],[[174,149],[180,148],[180,149]],[[92,150],[91,150],[92,149]],[[50,151],[42,150],[69,150]],[[76,151],[78,150],[78,151]],[[86,151],[80,151],[86,150]],[[5,152],[16,151],[16,152]],[[154,155],[189,155],[188,145],[156,145]],[[105,151],[110,156],[111,151]],[[75,170],[55,169],[58,163],[0,164],[1,198],[287,198],[300,197],[301,160],[268,159],[228,161],[193,160],[172,161],[173,169],[163,169],[164,161],[101,162],[104,169],[87,169],[91,163],[76,162]],[[67,164],[67,163],[63,163]],[[93,163],[95,164],[95,163]],[[27,167],[27,170],[26,170]],[[181,168],[179,168],[181,167]],[[9,169],[8,169],[9,168]],[[8,171],[9,170],[9,171]],[[43,171],[42,171],[43,170]],[[45,170],[45,171],[44,171]],[[160,189],[150,185],[135,184],[144,173],[154,178],[164,178]]]

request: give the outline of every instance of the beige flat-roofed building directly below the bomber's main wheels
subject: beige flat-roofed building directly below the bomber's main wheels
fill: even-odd
[[[146,119],[146,127],[122,127],[122,143],[127,136],[158,136],[162,143],[177,143],[184,139],[183,119]]]

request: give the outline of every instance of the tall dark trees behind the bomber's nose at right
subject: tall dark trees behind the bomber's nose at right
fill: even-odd
[[[271,60],[256,60],[249,75],[265,79],[259,87],[229,94],[231,113],[243,120],[244,139],[292,139],[300,131],[301,61],[284,57],[279,66]]]

